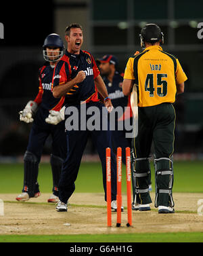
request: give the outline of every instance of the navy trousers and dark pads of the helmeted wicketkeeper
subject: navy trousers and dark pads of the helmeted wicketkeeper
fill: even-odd
[[[45,117],[49,115],[47,109],[39,108],[30,131],[28,147],[24,155],[24,186],[22,191],[30,197],[39,192],[37,182],[39,162],[43,153],[43,146],[48,136],[52,138],[51,170],[53,175],[53,194],[58,196],[58,182],[62,168],[62,162],[66,158],[66,134],[64,121],[57,125],[47,124]]]

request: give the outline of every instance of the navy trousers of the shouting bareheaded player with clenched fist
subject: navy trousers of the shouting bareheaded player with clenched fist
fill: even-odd
[[[89,115],[81,115],[81,105],[74,106],[75,110],[78,111],[78,127],[74,130],[67,130],[68,119],[71,115],[67,115],[66,108],[65,117],[66,117],[66,139],[67,139],[67,157],[64,161],[62,167],[62,173],[60,176],[59,182],[59,198],[62,202],[67,203],[68,199],[72,195],[75,189],[74,182],[76,181],[76,177],[78,175],[78,170],[81,165],[81,158],[83,156],[83,152],[85,150],[85,146],[87,145],[87,139],[91,135],[93,139],[93,143],[95,143],[95,147],[99,154],[99,158],[101,160],[102,166],[102,179],[103,186],[105,192],[105,200],[106,200],[106,147],[110,147],[112,149],[112,137],[110,126],[108,124],[107,130],[102,128],[102,124],[104,122],[108,123],[108,113],[105,109],[104,105],[101,103],[87,103],[86,108],[87,112],[91,109],[91,107],[97,108],[97,113],[91,113],[89,111]],[[102,111],[103,107],[103,111]],[[106,114],[105,114],[105,111]],[[101,114],[103,113],[103,114]],[[90,125],[90,121],[93,120],[93,117],[97,118],[99,121],[99,127],[93,128]],[[75,120],[74,120],[75,121]],[[97,121],[93,122],[96,123]],[[86,129],[84,129],[86,126]],[[88,125],[89,124],[89,125]],[[81,128],[83,126],[83,128]],[[116,158],[114,153],[111,154],[111,171],[112,171],[112,200],[116,200]],[[87,181],[87,186],[91,185],[93,181]]]

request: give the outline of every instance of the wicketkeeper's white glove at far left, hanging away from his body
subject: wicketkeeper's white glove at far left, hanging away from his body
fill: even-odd
[[[26,107],[19,112],[20,114],[20,121],[31,123],[33,122],[33,116],[37,112],[37,103],[35,101],[30,100],[28,101]]]

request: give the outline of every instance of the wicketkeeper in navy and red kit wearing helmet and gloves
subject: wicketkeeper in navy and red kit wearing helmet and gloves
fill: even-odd
[[[51,92],[53,70],[58,60],[62,58],[64,43],[59,35],[50,34],[45,38],[43,45],[43,57],[46,62],[39,69],[39,93],[35,100],[30,100],[23,111],[20,111],[20,121],[33,122],[30,131],[28,147],[24,154],[24,186],[22,194],[16,200],[27,201],[29,198],[40,196],[37,182],[39,162],[43,151],[43,145],[49,134],[52,137],[51,170],[53,175],[53,194],[48,202],[58,202],[58,182],[62,169],[62,162],[66,158],[66,134],[64,122],[58,125],[47,124],[45,121],[51,113],[62,115],[60,109],[64,104],[64,97],[54,98]]]

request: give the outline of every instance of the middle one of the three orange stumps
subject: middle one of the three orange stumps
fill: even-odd
[[[116,227],[120,227],[121,224],[121,205],[122,205],[122,195],[121,195],[121,181],[122,181],[122,149],[117,148],[117,223]]]

